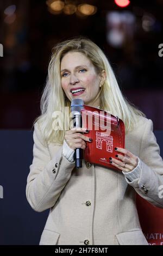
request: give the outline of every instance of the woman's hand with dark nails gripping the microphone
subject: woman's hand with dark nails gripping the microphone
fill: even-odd
[[[68,146],[76,150],[77,148],[85,149],[86,142],[91,142],[92,139],[89,137],[84,136],[82,133],[88,133],[89,130],[86,128],[76,128],[73,127],[71,130],[65,132],[65,141]]]

